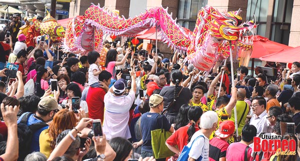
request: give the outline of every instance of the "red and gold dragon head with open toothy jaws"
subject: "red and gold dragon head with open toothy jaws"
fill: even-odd
[[[252,36],[249,35],[255,34],[256,24],[252,20],[242,23],[242,18],[239,16],[240,9],[230,12],[219,12],[211,6],[206,6],[204,9],[209,11],[213,18],[208,25],[212,36],[218,40],[237,41],[238,44],[248,47],[252,45]]]

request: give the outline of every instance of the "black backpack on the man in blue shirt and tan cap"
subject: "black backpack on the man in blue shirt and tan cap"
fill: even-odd
[[[33,134],[37,130],[48,126],[45,122],[27,126],[27,120],[30,115],[32,115],[31,112],[26,113],[22,117],[21,121],[17,124],[17,136],[19,140],[19,147],[21,147],[19,149],[19,158],[17,161],[24,161],[25,157],[31,153],[31,140]]]

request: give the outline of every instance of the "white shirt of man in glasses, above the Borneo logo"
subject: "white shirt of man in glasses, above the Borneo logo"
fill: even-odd
[[[260,133],[268,133],[267,129],[268,129],[268,124],[269,121],[267,120],[267,113],[266,110],[264,110],[258,117],[256,114],[254,114],[251,117],[250,120],[250,125],[253,125],[256,127],[257,129],[257,133],[256,136],[258,137]]]

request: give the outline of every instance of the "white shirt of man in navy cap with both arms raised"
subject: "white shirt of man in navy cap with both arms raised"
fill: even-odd
[[[131,138],[128,120],[129,110],[134,99],[135,93],[132,90],[127,96],[114,96],[109,91],[105,94],[103,132],[106,135],[106,140],[115,137]]]

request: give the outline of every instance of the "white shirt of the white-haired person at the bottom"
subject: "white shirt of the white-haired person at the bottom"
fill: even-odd
[[[203,137],[198,138],[193,143],[188,156],[195,160],[197,160],[201,156],[201,161],[208,161],[209,139],[206,138],[203,133],[201,133],[200,131],[195,132],[192,135],[190,142],[187,144],[187,147],[190,147],[192,142],[200,135],[202,135]]]

